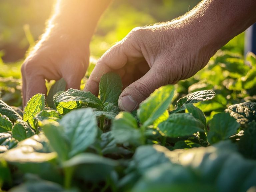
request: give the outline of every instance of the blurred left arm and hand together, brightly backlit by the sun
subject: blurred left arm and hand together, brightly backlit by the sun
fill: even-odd
[[[45,33],[25,59],[23,106],[36,93],[46,95],[45,79],[64,78],[66,89],[80,89],[89,64],[89,44],[111,0],[58,0]]]

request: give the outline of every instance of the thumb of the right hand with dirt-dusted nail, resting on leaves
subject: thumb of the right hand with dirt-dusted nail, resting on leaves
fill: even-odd
[[[121,110],[135,110],[155,89],[167,84],[157,71],[152,67],[143,77],[124,89],[118,100]]]

